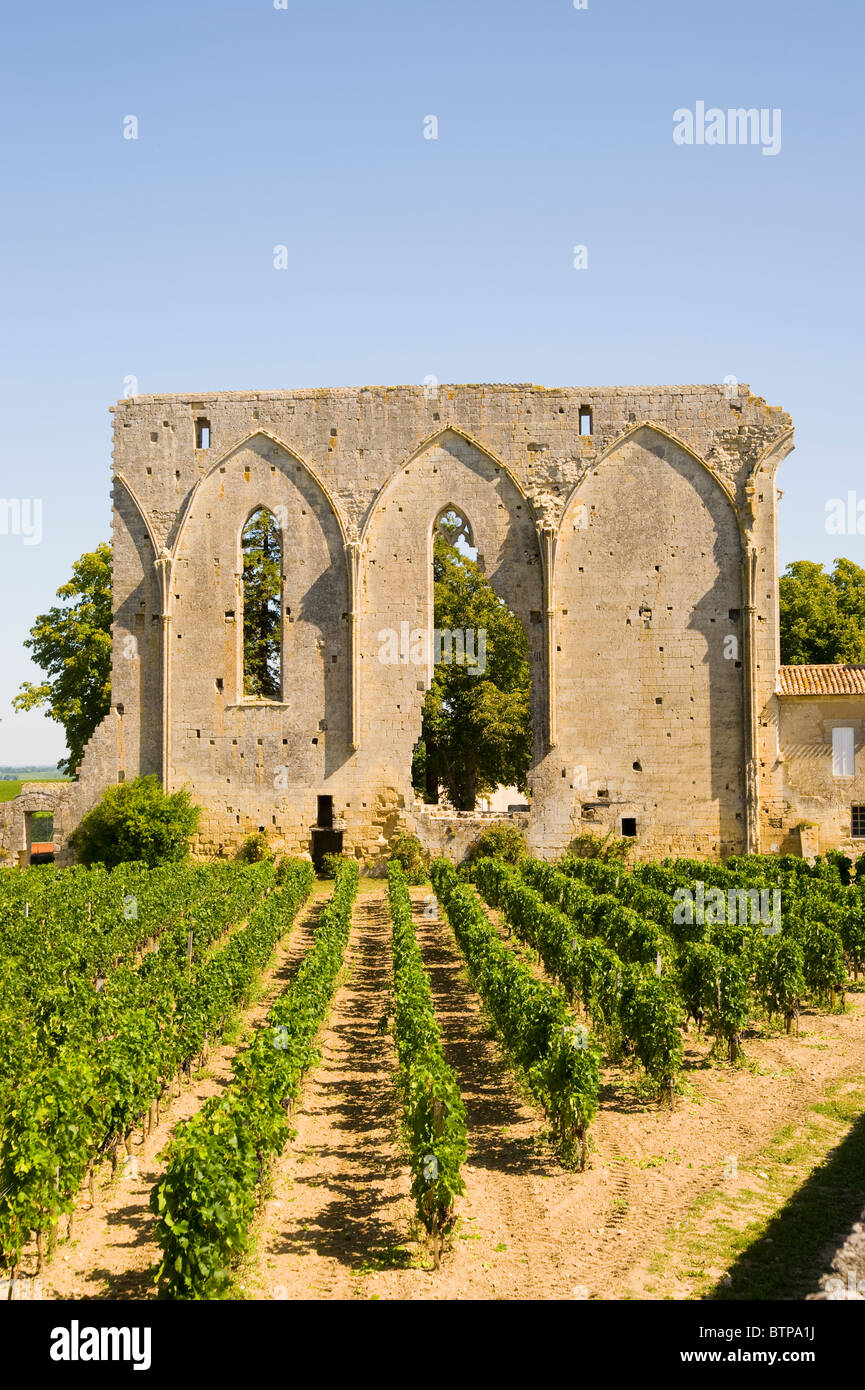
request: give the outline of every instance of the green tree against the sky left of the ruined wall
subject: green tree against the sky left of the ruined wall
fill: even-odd
[[[15,709],[47,706],[63,724],[68,758],[61,771],[76,771],[88,739],[111,706],[111,546],[103,541],[72,566],[54,605],[40,613],[25,641],[46,673],[39,684],[25,681],[13,699]]]

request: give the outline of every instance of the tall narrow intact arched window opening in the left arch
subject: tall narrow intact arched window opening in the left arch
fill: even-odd
[[[282,537],[271,512],[253,512],[241,534],[243,696],[282,698]]]

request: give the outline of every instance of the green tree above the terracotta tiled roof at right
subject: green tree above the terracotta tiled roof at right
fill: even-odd
[[[784,666],[865,662],[865,570],[852,560],[794,560],[780,578]]]

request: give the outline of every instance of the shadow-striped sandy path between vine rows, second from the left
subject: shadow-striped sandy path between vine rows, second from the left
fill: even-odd
[[[396,1144],[391,924],[384,890],[355,903],[321,1061],[292,1113],[241,1286],[257,1298],[350,1298],[373,1262],[407,1259],[410,1179]],[[417,1277],[417,1276],[416,1276]]]

